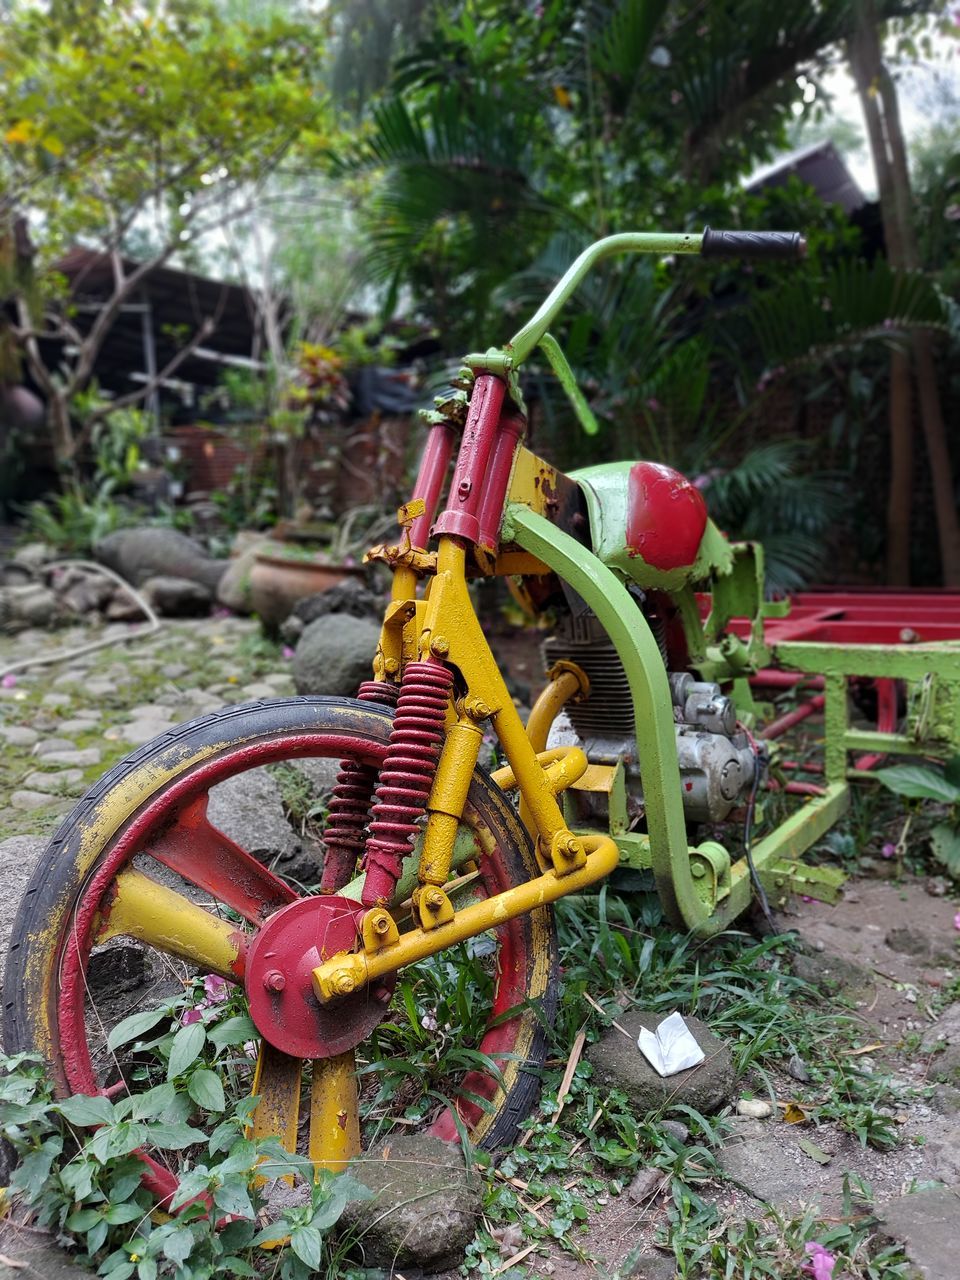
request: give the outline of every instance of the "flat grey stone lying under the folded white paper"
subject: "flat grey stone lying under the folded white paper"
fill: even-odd
[[[685,1018],[705,1059],[699,1066],[676,1075],[658,1075],[636,1047],[636,1038],[641,1027],[654,1030],[663,1018],[662,1012],[639,1010],[622,1014],[620,1023],[628,1036],[611,1027],[588,1050],[594,1076],[607,1088],[622,1089],[641,1114],[667,1108],[671,1103],[685,1103],[705,1115],[719,1111],[736,1087],[730,1050],[699,1018]]]

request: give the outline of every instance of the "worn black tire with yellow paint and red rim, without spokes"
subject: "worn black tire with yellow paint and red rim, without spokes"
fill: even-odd
[[[76,920],[81,908],[95,905],[90,901],[93,892],[90,886],[96,883],[97,869],[102,879],[110,858],[122,856],[124,835],[129,838],[134,823],[146,813],[155,808],[166,812],[163,801],[168,794],[173,796],[172,788],[178,788],[179,799],[170,799],[168,820],[175,822],[177,805],[186,804],[184,788],[196,787],[196,794],[202,794],[215,782],[264,763],[311,755],[338,758],[346,740],[357,759],[375,763],[385,750],[389,732],[390,713],[370,703],[332,698],[250,703],[179,724],[110,769],[63,822],[27,886],[6,960],[8,1052],[40,1053],[56,1091],[78,1092],[77,1082],[83,1073],[74,1061],[76,1044],[63,1042],[63,1015],[58,1012],[61,983],[67,989],[61,974],[67,943],[69,940],[70,947],[82,954]],[[483,769],[474,776],[465,820],[477,841],[485,841],[481,877],[486,891],[495,892],[538,874],[526,831]],[[134,849],[123,855],[114,874],[128,865],[134,852],[142,867],[148,850]],[[100,913],[106,891],[96,892]],[[93,942],[96,937],[91,937],[86,957],[77,961],[84,966],[79,989],[87,986],[86,964]],[[484,1147],[511,1142],[534,1105],[557,1005],[557,942],[549,909],[541,908],[504,925],[498,931],[498,991],[502,995],[504,980],[512,982],[508,1007],[522,1007],[508,1019],[513,1030],[508,1060],[502,1062],[504,1087],[497,1089],[492,1110],[480,1112],[479,1119],[474,1116],[474,1140]],[[502,955],[512,957],[512,968],[517,970],[512,978],[504,979],[499,972]],[[520,1000],[515,998],[517,993]],[[499,1021],[502,1028],[504,1020]],[[498,1043],[502,1042],[500,1029]],[[82,1053],[90,1061],[88,1047]]]

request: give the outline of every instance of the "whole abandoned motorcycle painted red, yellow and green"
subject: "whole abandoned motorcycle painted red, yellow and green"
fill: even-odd
[[[558,980],[549,904],[618,867],[652,872],[668,920],[707,937],[755,888],[774,902],[794,890],[836,895],[836,872],[799,859],[842,813],[851,777],[879,751],[943,755],[960,744],[960,612],[945,617],[948,602],[934,600],[909,643],[895,644],[887,631],[874,643],[876,611],[845,631],[833,598],[791,616],[764,600],[762,549],[730,543],[677,472],[625,462],[567,476],[526,449],[518,379],[539,348],[594,430],[549,328],[600,259],[803,251],[796,233],[612,236],[509,343],[466,357],[426,415],[401,538],[367,556],[393,572],[372,678],[355,700],[260,703],[183,726],[81,801],[18,918],[12,1052],[40,1051],[61,1092],[128,1088],[122,1064],[91,1038],[86,975],[96,948],[138,940],[243,984],[261,1036],[255,1137],[296,1146],[301,1071],[312,1062],[308,1151],[339,1170],[360,1149],[355,1050],[387,1015],[397,972],[486,934],[493,1002],[475,1060],[498,1068],[470,1070],[457,1115],[442,1111],[430,1129],[452,1139],[466,1126],[493,1146],[516,1134],[547,1051]],[[468,591],[470,579],[490,576],[556,622],[548,684],[526,726]],[[851,677],[879,681],[882,732],[850,726]],[[764,730],[763,691],[810,681],[810,699]],[[773,740],[819,710],[823,785],[781,773],[801,803],[750,849],[745,819],[749,832]],[[493,774],[477,768],[488,731],[507,762]],[[849,768],[851,751],[870,754]],[[211,826],[206,795],[224,777],[311,755],[340,765],[321,892],[300,897]],[[150,876],[151,859],[229,911]],[[169,1196],[175,1178],[143,1158],[150,1185]]]

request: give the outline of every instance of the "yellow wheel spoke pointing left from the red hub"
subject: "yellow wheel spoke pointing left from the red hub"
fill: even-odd
[[[218,919],[133,867],[120,872],[115,884],[115,896],[101,913],[97,942],[137,938],[206,973],[233,980],[242,975],[244,937],[238,925]]]

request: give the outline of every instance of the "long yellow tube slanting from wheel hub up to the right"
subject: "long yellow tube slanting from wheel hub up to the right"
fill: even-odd
[[[558,897],[576,893],[609,876],[620,861],[620,850],[609,836],[589,835],[581,836],[580,840],[588,855],[582,867],[576,867],[563,876],[558,876],[550,868],[535,879],[463,908],[445,924],[438,924],[433,929],[411,929],[401,934],[396,942],[376,951],[340,952],[314,969],[314,995],[321,1004],[328,1004],[338,995],[356,991],[403,965],[416,964],[417,960],[456,946],[486,929],[495,929],[517,915],[556,902]]]

